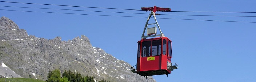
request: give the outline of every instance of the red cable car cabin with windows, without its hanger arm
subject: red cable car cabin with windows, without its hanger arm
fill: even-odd
[[[138,41],[136,73],[141,76],[170,74],[171,71],[175,69],[171,63],[171,42],[172,41],[167,37],[142,39]]]

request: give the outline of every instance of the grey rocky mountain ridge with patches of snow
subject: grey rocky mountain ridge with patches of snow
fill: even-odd
[[[61,37],[47,40],[29,36],[6,17],[0,19],[0,62],[24,78],[31,75],[46,80],[49,71],[60,69],[93,75],[96,80],[155,82],[152,77],[145,79],[132,73],[127,62],[92,47],[84,35],[68,41],[61,41]]]

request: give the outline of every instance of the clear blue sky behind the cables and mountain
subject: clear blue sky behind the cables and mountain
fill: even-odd
[[[6,1],[6,0],[0,0]],[[102,1],[63,1],[63,0],[8,0],[13,2],[75,5],[87,7],[106,7],[122,9],[140,9],[141,7],[169,7],[172,11],[221,11],[256,12],[255,0],[102,0]],[[127,11],[116,9],[59,7],[50,5],[32,5],[3,3],[1,6],[40,7],[80,9],[90,11],[111,11],[150,13],[145,11]],[[83,13],[95,15],[139,16],[148,15],[103,13],[82,11],[61,11],[49,9],[28,9],[0,7],[0,9]],[[235,15],[256,16],[255,13],[188,13],[157,12],[160,14],[180,15]],[[137,41],[141,39],[147,18],[71,15],[56,13],[17,12],[0,10],[0,16],[13,20],[20,29],[29,35],[53,39],[72,40],[85,35],[92,46],[100,47],[107,53],[131,65],[137,61]],[[256,22],[256,17],[225,16],[175,16],[157,15],[162,18],[246,21]],[[152,19],[151,19],[152,20]],[[172,62],[179,69],[165,75],[154,76],[157,82],[256,82],[256,23],[217,22],[196,20],[157,19],[166,37],[172,40]]]

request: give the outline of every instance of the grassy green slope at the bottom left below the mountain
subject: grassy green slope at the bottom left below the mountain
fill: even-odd
[[[5,78],[1,78],[0,82],[4,82]],[[45,82],[43,80],[32,79],[32,78],[6,78],[6,82]]]

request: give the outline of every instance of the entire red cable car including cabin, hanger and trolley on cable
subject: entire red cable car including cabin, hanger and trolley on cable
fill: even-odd
[[[162,33],[157,21],[155,14],[156,11],[170,12],[170,8],[160,8],[160,7],[141,7],[143,11],[151,11],[147,19],[146,25],[144,27],[141,40],[138,41],[138,53],[137,53],[137,69],[131,67],[133,73],[137,73],[141,76],[147,78],[147,76],[153,75],[163,75],[168,77],[174,69],[178,68],[176,63],[171,63],[172,58],[172,41],[165,37]],[[149,19],[153,15],[155,23],[148,24]],[[149,25],[155,25],[152,28],[148,28]],[[157,27],[160,34],[156,34]],[[147,35],[145,36],[145,30],[147,29]],[[157,37],[160,36],[160,37]],[[148,37],[155,37],[149,38]]]

